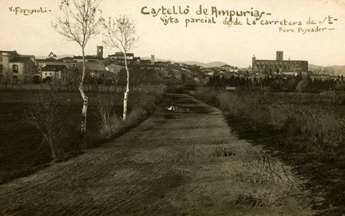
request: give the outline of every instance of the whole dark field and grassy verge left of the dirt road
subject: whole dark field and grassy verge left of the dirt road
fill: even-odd
[[[81,104],[78,92],[1,92],[0,184],[25,177],[52,161],[64,161],[111,141],[144,121],[155,110],[163,90],[132,92],[128,101],[128,119],[121,120],[123,94],[89,93],[86,137],[80,133]],[[99,119],[99,103],[111,101],[108,128]],[[34,102],[32,102],[34,101]],[[44,133],[44,135],[43,135]],[[55,159],[52,159],[52,150]]]

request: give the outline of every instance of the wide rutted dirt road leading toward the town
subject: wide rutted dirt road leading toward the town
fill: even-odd
[[[115,141],[1,185],[0,215],[312,215],[302,197],[221,110],[170,94]]]

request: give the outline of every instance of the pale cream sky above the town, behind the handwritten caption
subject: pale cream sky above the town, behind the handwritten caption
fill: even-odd
[[[57,55],[81,55],[81,48],[75,42],[66,42],[51,27],[61,14],[58,5],[61,0],[1,0],[0,1],[0,50],[17,50],[22,55],[47,56],[50,52]],[[225,17],[215,18],[216,23],[189,23],[185,19],[210,18],[208,15],[197,15],[199,6],[208,9],[215,6],[218,10],[269,12],[259,21],[302,21],[302,26],[255,26],[246,24],[246,17],[239,17],[242,26],[228,27],[223,24]],[[9,7],[36,9],[39,7],[52,10],[28,16],[11,12]],[[164,26],[160,20],[165,15],[141,14],[161,6],[182,9],[189,6],[185,15],[172,15],[179,23]],[[103,17],[117,17],[127,14],[135,21],[139,42],[132,50],[135,56],[150,57],[172,61],[224,61],[232,66],[249,66],[253,55],[257,59],[275,59],[275,51],[283,50],[284,59],[306,60],[309,63],[332,66],[345,65],[345,0],[218,0],[218,1],[171,1],[171,0],[103,0],[100,8]],[[253,10],[251,10],[253,8]],[[316,22],[323,21],[330,15],[337,21],[328,24],[306,25],[309,17]],[[170,15],[168,15],[170,17]],[[234,18],[236,18],[234,16]],[[255,17],[248,17],[253,20]],[[258,22],[259,22],[258,21]],[[297,32],[298,28],[334,28],[322,32]],[[294,28],[295,32],[279,32],[279,27]],[[87,55],[96,54],[96,46],[101,45],[101,35],[91,39],[86,47]],[[104,57],[116,52],[104,48]]]

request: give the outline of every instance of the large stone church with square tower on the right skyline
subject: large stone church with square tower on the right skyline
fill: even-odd
[[[296,72],[308,72],[308,61],[284,60],[283,51],[276,52],[275,60],[252,59],[252,69],[259,72],[272,74],[295,74]]]

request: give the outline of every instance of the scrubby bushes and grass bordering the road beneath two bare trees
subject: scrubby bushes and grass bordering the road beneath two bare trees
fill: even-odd
[[[50,148],[52,159],[62,161],[70,153],[99,146],[137,126],[155,110],[162,95],[163,92],[141,93],[129,103],[128,116],[124,120],[118,95],[98,94],[92,112],[88,113],[89,119],[94,115],[96,124],[90,128],[87,121],[86,134],[81,134],[80,131],[81,115],[61,115],[63,104],[59,103],[54,92],[40,95],[27,111],[24,121],[39,129],[43,135],[42,144],[47,144]]]

